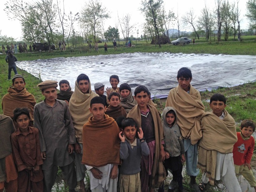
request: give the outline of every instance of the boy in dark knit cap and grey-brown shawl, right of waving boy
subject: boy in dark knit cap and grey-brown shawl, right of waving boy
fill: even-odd
[[[123,83],[119,87],[121,99],[120,104],[124,107],[125,111],[129,111],[137,104],[136,99],[132,96],[131,87],[127,83]]]

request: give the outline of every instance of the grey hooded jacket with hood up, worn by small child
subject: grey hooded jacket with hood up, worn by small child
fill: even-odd
[[[166,114],[168,111],[173,110],[175,113],[175,121],[172,127],[169,127],[166,122]],[[176,110],[172,107],[165,107],[163,110],[163,130],[164,130],[164,151],[170,154],[170,157],[177,157],[185,154],[184,145],[182,141],[180,127],[177,125]]]

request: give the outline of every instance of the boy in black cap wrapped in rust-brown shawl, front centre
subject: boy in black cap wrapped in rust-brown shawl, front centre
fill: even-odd
[[[117,191],[120,164],[119,128],[115,120],[105,115],[106,106],[101,97],[90,102],[90,117],[83,127],[82,164],[90,171],[92,192]]]

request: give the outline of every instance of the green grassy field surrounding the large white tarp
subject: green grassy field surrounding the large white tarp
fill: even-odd
[[[102,44],[103,43],[99,43]],[[110,44],[111,45],[111,44]],[[256,55],[256,41],[242,41],[242,42],[220,42],[220,43],[199,43],[199,44],[189,44],[189,45],[162,45],[162,47],[158,47],[155,45],[147,44],[141,42],[141,45],[136,47],[119,47],[117,51],[115,51],[112,47],[108,48],[108,53],[106,54],[120,54],[120,53],[134,53],[134,52],[170,52],[170,53],[184,53],[184,54],[229,54],[229,55]],[[90,55],[104,55],[104,49],[99,49],[99,53],[94,50],[88,50],[84,52],[83,50],[69,50],[65,52],[54,51],[52,53],[41,52],[41,53],[22,53],[16,54],[15,56],[19,61],[24,60],[37,60],[37,59],[50,59],[56,57],[78,57],[78,56],[90,56]],[[8,64],[5,62],[5,55],[0,55],[0,102],[2,100],[3,95],[7,93],[7,89],[11,86],[11,81],[7,81],[8,75]],[[40,83],[40,79],[34,77],[26,71],[17,68],[19,74],[22,74],[26,80],[26,88],[32,93],[37,102],[43,99],[41,92],[39,91],[36,85]],[[12,71],[11,76],[14,73]],[[222,93],[227,97],[227,111],[232,115],[237,123],[237,128],[239,124],[244,119],[252,119],[256,121],[256,83],[250,83],[230,87],[230,88],[222,88],[218,90],[214,90],[212,92],[203,92],[201,93],[202,101],[205,105],[205,110],[210,111],[209,104],[207,100],[214,93]],[[159,110],[162,112],[165,106],[165,99],[156,99],[155,103],[158,104]],[[2,108],[0,109],[0,113],[2,113]],[[255,165],[255,157],[253,157],[252,164]],[[200,180],[200,175],[198,176],[198,181]],[[188,185],[185,184],[188,191],[192,191],[189,189]],[[209,189],[209,191],[214,191],[214,189]]]

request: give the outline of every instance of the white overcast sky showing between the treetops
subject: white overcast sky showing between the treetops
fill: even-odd
[[[57,2],[57,0],[53,0],[54,2]],[[62,0],[61,0],[62,1]],[[85,3],[89,0],[64,0],[65,4],[65,12],[68,14],[70,11],[72,11],[73,14],[76,12],[80,12],[82,7],[85,6]],[[210,10],[213,10],[215,7],[215,0],[163,0],[165,4],[166,11],[173,10],[175,13],[175,16],[177,16],[177,12],[179,13],[179,17],[182,17],[187,11],[189,11],[191,8],[194,9],[194,12],[197,16],[201,14],[201,10],[204,8],[205,3],[207,7],[210,8]],[[229,0],[230,2],[236,2],[236,0]],[[246,13],[246,1],[247,0],[240,0],[239,2],[239,8],[241,10],[241,19],[242,22],[240,24],[241,29],[247,29],[248,28],[248,20],[245,17]],[[12,1],[1,1],[0,7],[5,8],[4,4],[8,2],[11,3]],[[26,0],[26,2],[33,2],[33,0]],[[107,19],[104,22],[104,29],[106,30],[109,26],[115,27],[115,23],[118,21],[117,15],[119,14],[119,17],[122,17],[123,15],[130,13],[131,14],[131,23],[136,24],[136,29],[133,30],[133,35],[136,36],[136,30],[139,28],[139,36],[142,34],[141,24],[144,22],[143,15],[139,8],[141,7],[141,1],[140,0],[104,0],[101,1],[102,5],[107,8],[107,10],[110,12],[111,18]],[[2,9],[2,10],[3,10]],[[10,15],[7,15],[6,12],[2,12],[1,16],[1,35],[7,35],[12,36],[13,38],[16,38],[17,40],[22,39],[22,31],[21,31],[21,25],[18,20],[14,20]],[[11,19],[11,20],[8,20]],[[177,28],[177,26],[174,26],[174,29]],[[75,27],[75,29],[78,31],[78,26]],[[185,28],[186,31],[192,31],[190,28]],[[119,29],[120,31],[120,29]],[[120,31],[120,37],[122,38],[122,34]]]

